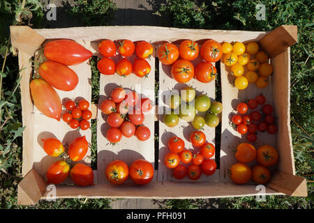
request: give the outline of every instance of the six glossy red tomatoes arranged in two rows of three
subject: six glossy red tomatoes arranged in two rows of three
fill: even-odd
[[[116,45],[117,43],[117,45]],[[154,53],[154,48],[146,41],[133,43],[131,40],[117,40],[114,43],[112,40],[103,40],[98,45],[98,52],[104,57],[97,63],[97,68],[103,75],[114,75],[117,72],[120,76],[128,76],[132,72],[137,77],[147,77],[151,72],[151,66],[147,62],[147,58]],[[136,54],[133,64],[128,60],[128,56]],[[117,64],[111,59],[120,54],[123,56]]]

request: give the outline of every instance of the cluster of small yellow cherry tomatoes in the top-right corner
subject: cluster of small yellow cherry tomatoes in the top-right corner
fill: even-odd
[[[230,66],[231,74],[235,77],[234,85],[239,90],[246,89],[248,84],[255,83],[259,88],[265,88],[269,83],[269,76],[273,66],[267,63],[269,56],[258,43],[223,43],[223,63]],[[246,66],[246,69],[244,69]]]

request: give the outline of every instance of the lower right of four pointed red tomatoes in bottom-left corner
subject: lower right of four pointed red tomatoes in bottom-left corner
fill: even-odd
[[[70,177],[76,185],[87,187],[94,185],[94,173],[91,167],[77,163],[70,170]]]

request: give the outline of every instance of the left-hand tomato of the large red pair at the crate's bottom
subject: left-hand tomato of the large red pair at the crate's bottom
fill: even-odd
[[[128,178],[128,165],[122,160],[114,160],[107,164],[105,174],[110,183],[120,185]]]

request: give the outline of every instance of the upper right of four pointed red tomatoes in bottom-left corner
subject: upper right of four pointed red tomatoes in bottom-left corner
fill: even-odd
[[[77,137],[68,147],[68,156],[73,161],[83,160],[89,149],[85,136]]]

